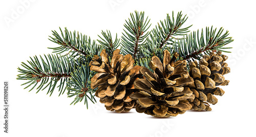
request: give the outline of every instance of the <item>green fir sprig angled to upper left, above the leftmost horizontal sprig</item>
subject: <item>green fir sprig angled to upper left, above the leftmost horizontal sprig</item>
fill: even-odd
[[[90,37],[78,32],[76,34],[75,31],[72,34],[67,28],[65,28],[64,33],[60,29],[61,36],[56,31],[52,31],[52,33],[53,37],[49,36],[49,40],[60,45],[59,47],[49,47],[53,49],[53,52],[63,53],[69,51],[67,54],[71,53],[72,57],[85,56],[92,59],[95,54],[98,55],[102,50],[102,47],[97,45],[95,40],[92,41]]]

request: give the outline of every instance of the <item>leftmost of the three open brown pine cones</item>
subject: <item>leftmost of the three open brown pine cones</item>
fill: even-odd
[[[109,111],[129,112],[137,105],[129,95],[134,91],[134,80],[141,77],[139,66],[134,66],[131,54],[123,56],[116,49],[113,53],[111,62],[105,49],[99,56],[94,56],[90,62],[90,69],[96,71],[91,78],[91,88],[98,87],[95,95],[100,98],[100,102],[105,104]]]

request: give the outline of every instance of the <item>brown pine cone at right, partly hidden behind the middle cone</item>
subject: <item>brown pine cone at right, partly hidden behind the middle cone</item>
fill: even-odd
[[[189,62],[189,75],[194,78],[195,83],[190,85],[190,89],[195,95],[191,105],[196,111],[211,111],[209,103],[216,104],[218,99],[214,95],[222,96],[225,92],[216,86],[228,85],[229,80],[225,80],[224,74],[230,72],[226,61],[228,57],[221,51],[210,52],[210,56],[204,55],[199,61]],[[207,103],[208,102],[208,103]]]

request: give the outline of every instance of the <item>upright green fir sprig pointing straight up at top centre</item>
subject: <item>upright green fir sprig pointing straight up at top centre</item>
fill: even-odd
[[[122,38],[122,47],[121,52],[123,54],[131,54],[136,60],[137,54],[139,52],[139,48],[144,44],[147,36],[150,32],[146,32],[148,28],[150,28],[151,24],[148,25],[150,19],[148,17],[144,20],[144,12],[140,12],[140,14],[135,11],[134,14],[130,14],[131,19],[125,20],[126,23]]]

